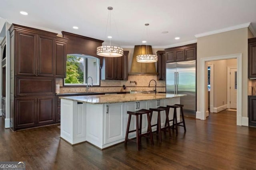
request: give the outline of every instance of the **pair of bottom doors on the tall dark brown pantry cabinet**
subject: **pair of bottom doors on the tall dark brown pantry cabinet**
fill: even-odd
[[[55,123],[55,96],[17,97],[14,103],[14,131]]]

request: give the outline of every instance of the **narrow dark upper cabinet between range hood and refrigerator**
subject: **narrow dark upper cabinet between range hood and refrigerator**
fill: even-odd
[[[166,79],[166,54],[165,51],[157,51],[157,80],[165,80]]]

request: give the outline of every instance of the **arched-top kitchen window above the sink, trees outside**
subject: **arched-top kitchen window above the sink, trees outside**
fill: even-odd
[[[66,86],[86,86],[92,77],[93,85],[100,85],[100,59],[89,55],[68,54],[66,63]],[[88,80],[91,83],[91,79]]]

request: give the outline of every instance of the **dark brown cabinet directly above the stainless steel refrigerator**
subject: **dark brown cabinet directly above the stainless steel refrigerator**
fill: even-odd
[[[196,60],[196,43],[165,49],[166,63]]]

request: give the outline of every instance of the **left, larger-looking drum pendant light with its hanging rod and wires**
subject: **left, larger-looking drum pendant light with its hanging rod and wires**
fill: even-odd
[[[110,27],[110,33],[111,33],[111,10],[113,10],[112,6],[108,7],[109,10],[109,27]],[[107,21],[108,22],[108,21]],[[108,27],[108,25],[107,25]],[[106,35],[105,35],[106,36]],[[121,57],[124,55],[124,50],[121,47],[111,46],[111,38],[112,36],[108,36],[110,45],[103,45],[100,47],[97,47],[97,55],[102,57]]]

